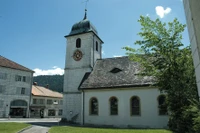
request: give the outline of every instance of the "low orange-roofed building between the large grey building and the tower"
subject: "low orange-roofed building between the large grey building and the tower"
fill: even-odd
[[[30,117],[61,117],[63,95],[48,89],[48,86],[32,86]]]

